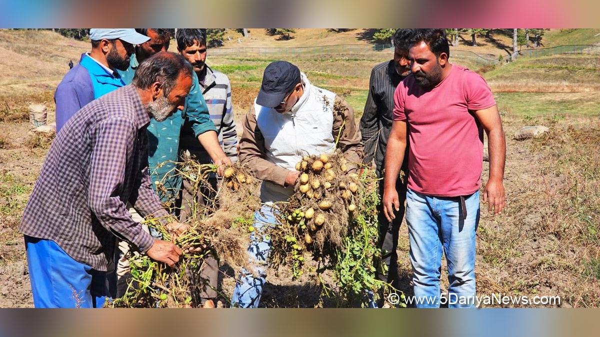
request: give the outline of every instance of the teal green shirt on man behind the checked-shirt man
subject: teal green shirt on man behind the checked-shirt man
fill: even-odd
[[[136,56],[131,55],[130,67],[126,71],[119,70],[125,83],[131,83],[138,65]],[[196,73],[192,74],[192,86],[185,98],[184,110],[178,110],[162,122],[151,119],[148,125],[149,173],[152,181],[160,182],[164,187],[158,189],[157,185],[152,184],[163,202],[174,201],[181,188],[182,180],[176,174],[175,163],[179,160],[179,138],[184,121],[189,125],[191,137],[196,139],[206,131],[217,131],[209,118]]]

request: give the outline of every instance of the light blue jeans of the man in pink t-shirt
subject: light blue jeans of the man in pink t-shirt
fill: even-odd
[[[407,191],[406,222],[417,308],[440,306],[442,249],[448,261],[448,307],[475,306],[479,191],[465,196],[464,201],[467,216],[463,219],[460,198],[431,197],[411,189]]]

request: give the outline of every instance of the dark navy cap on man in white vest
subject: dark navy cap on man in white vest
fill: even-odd
[[[256,103],[274,108],[300,83],[300,70],[286,61],[271,62],[265,68]]]

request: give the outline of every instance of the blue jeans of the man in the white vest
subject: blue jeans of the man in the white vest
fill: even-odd
[[[266,260],[271,252],[271,240],[267,239],[265,231],[268,227],[277,224],[276,210],[271,206],[263,205],[254,213],[254,233],[250,235],[248,255],[250,263],[254,264],[252,271],[242,269],[236,280],[231,305],[238,308],[257,308],[262,294],[262,287],[266,282]]]

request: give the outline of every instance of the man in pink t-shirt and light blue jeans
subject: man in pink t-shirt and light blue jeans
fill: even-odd
[[[483,201],[497,214],[505,203],[502,122],[485,80],[448,62],[442,29],[415,29],[409,45],[412,75],[394,93],[383,209],[393,219],[400,206],[395,182],[408,136],[406,221],[413,289],[421,301],[416,305],[439,307],[446,302],[451,308],[472,307],[483,131],[490,145],[490,179]],[[448,294],[440,294],[442,253],[448,260]]]

